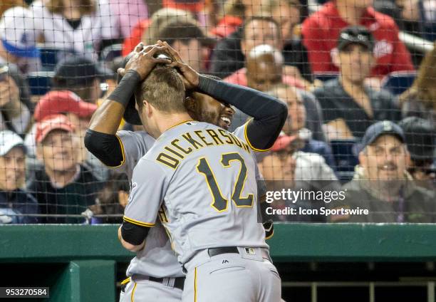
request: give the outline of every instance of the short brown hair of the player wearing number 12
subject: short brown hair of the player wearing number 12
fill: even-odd
[[[175,68],[157,64],[152,72],[142,81],[135,91],[138,108],[142,107],[142,100],[147,100],[157,110],[166,113],[180,113],[186,111],[185,85]]]

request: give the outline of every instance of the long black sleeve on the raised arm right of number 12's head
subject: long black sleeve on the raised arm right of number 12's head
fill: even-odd
[[[287,115],[286,104],[271,95],[241,85],[199,76],[199,90],[219,101],[234,105],[253,117],[247,125],[246,138],[256,150],[267,150],[276,141]]]

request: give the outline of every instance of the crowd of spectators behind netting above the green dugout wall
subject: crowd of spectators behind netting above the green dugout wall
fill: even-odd
[[[121,222],[127,177],[83,137],[123,58],[159,39],[288,105],[258,156],[270,189],[347,191],[273,207],[374,213],[276,220],[436,222],[435,34],[436,0],[1,1],[0,224]],[[230,130],[249,118],[235,110]]]

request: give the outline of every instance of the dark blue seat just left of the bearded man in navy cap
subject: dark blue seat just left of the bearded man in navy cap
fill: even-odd
[[[336,160],[336,172],[341,182],[348,182],[353,178],[354,167],[358,165],[355,152],[356,139],[331,140],[330,145]]]

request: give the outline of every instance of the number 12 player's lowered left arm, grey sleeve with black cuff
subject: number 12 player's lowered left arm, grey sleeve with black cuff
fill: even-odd
[[[118,229],[118,239],[125,249],[139,251],[145,246],[148,231],[155,226],[167,184],[165,172],[157,163],[144,158],[137,163],[123,224]]]

